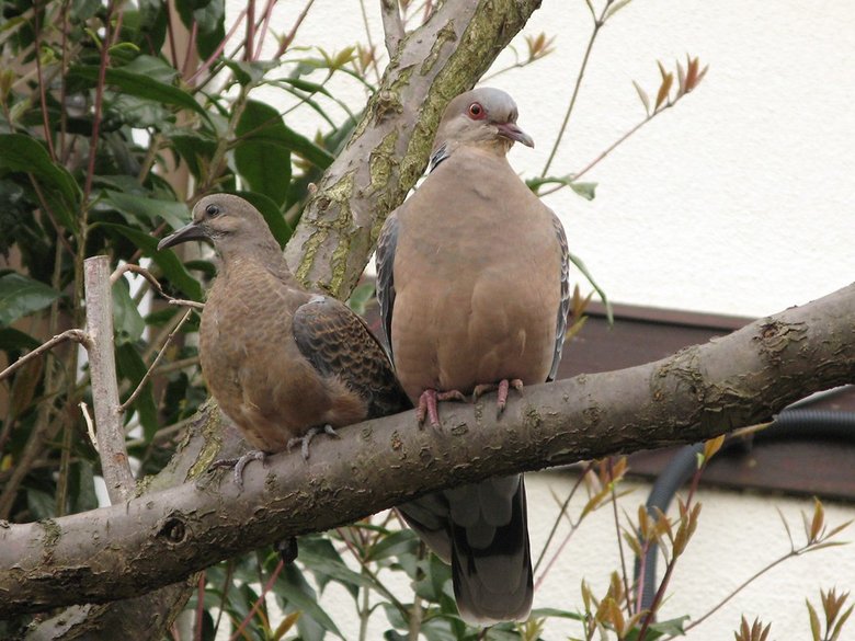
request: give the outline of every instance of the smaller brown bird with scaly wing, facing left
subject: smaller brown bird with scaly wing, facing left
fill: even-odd
[[[193,221],[158,244],[213,242],[220,257],[200,327],[210,393],[255,448],[252,459],[317,434],[410,408],[386,352],[347,306],[294,278],[261,214],[228,194],[205,196]]]

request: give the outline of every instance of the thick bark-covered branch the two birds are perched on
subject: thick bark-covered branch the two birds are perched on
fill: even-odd
[[[323,530],[415,494],[492,474],[694,443],[766,421],[855,381],[855,285],[647,365],[512,396],[444,403],[442,430],[412,413],[126,503],[0,528],[0,617],[138,595],[285,536]],[[203,457],[204,458],[204,457]]]

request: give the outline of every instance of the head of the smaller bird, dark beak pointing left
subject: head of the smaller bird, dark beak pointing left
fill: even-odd
[[[193,207],[193,221],[166,237],[158,250],[189,240],[205,240],[225,256],[235,251],[256,251],[259,247],[276,252],[280,247],[259,210],[231,194],[212,194]]]

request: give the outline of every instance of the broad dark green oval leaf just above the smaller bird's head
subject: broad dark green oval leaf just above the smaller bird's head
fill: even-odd
[[[290,185],[290,150],[284,144],[288,131],[282,116],[272,106],[250,100],[240,116],[236,134],[235,164],[238,173],[251,191],[264,194],[277,207],[282,206]]]

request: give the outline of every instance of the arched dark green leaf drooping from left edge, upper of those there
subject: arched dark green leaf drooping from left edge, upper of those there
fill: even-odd
[[[0,167],[31,173],[39,179],[43,187],[61,195],[64,207],[56,214],[68,229],[77,230],[73,213],[79,207],[82,192],[68,170],[53,162],[41,142],[23,134],[0,134],[0,149],[3,150]]]

